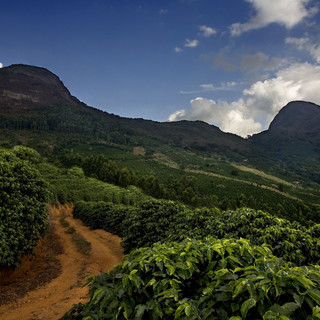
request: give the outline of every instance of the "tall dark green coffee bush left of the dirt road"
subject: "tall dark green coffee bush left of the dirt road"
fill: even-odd
[[[30,254],[47,226],[47,185],[32,166],[29,148],[0,150],[0,267],[14,268]],[[33,158],[32,158],[33,159]]]

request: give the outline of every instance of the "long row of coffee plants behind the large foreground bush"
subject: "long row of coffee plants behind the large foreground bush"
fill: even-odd
[[[259,210],[191,210],[167,200],[149,200],[136,207],[81,201],[75,204],[74,216],[92,228],[121,236],[125,252],[158,241],[214,236],[266,243],[276,256],[296,265],[320,260],[319,225],[307,228]]]

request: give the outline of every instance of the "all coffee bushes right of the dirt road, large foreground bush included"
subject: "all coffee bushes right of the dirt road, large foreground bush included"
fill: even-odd
[[[74,216],[121,235],[129,255],[91,278],[90,301],[65,320],[320,317],[317,224],[166,200],[81,201]]]

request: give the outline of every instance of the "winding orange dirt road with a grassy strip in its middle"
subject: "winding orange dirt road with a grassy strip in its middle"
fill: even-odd
[[[72,218],[70,206],[49,207],[49,211],[50,223],[63,247],[63,253],[56,256],[61,265],[59,275],[23,298],[0,306],[1,320],[57,320],[73,304],[88,300],[88,287],[82,288],[86,276],[110,270],[122,260],[119,237],[85,227]],[[72,235],[61,225],[61,216],[91,244],[88,254],[79,252]]]

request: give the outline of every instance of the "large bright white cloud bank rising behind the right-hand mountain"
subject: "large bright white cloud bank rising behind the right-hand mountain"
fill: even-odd
[[[277,112],[290,101],[320,104],[319,88],[320,65],[295,63],[271,79],[255,82],[236,101],[215,102],[198,97],[190,101],[190,110],[179,110],[168,120],[203,120],[225,132],[247,136],[267,129]]]

